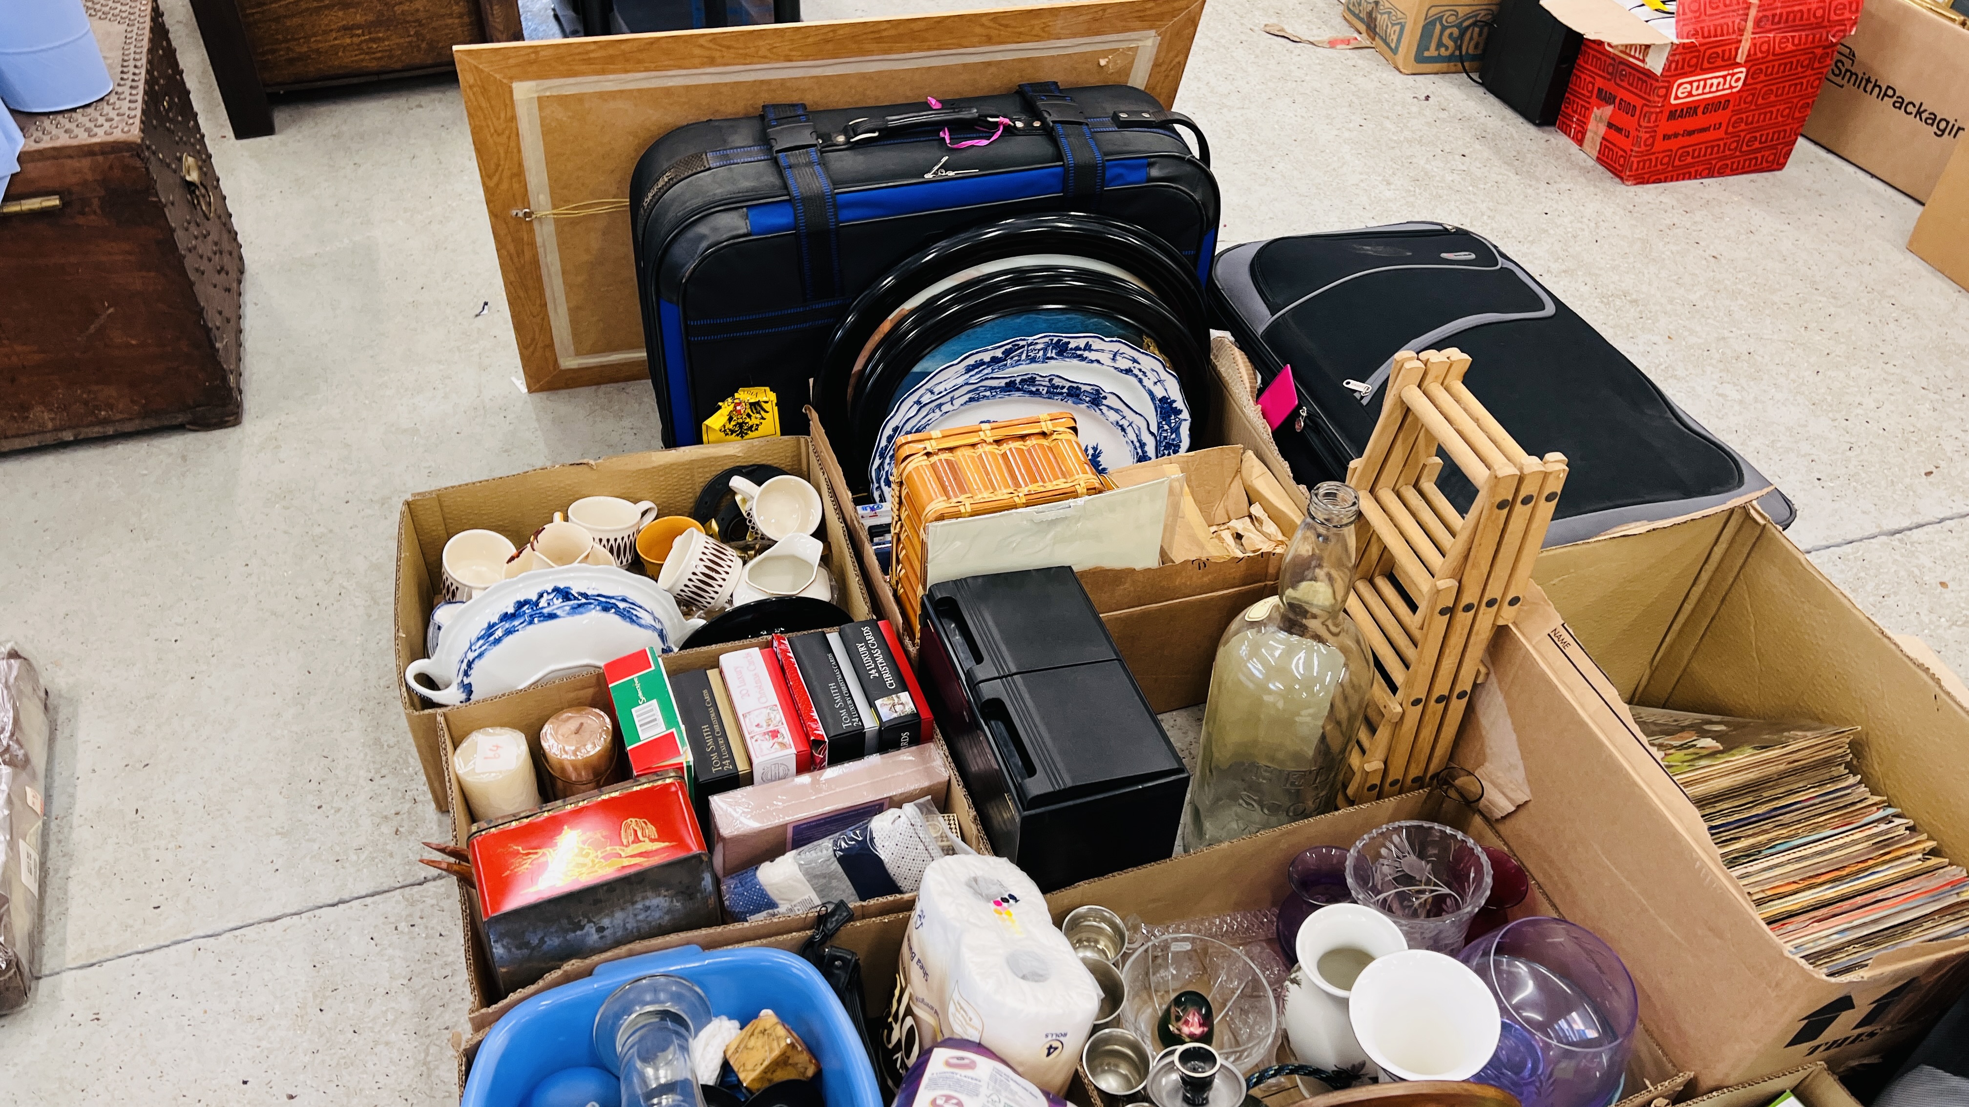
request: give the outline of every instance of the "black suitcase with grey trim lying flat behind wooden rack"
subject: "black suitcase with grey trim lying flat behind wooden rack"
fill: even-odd
[[[1526,449],[1569,461],[1546,546],[1676,518],[1766,490],[1737,451],[1678,408],[1640,368],[1481,234],[1441,223],[1244,242],[1217,256],[1207,290],[1219,325],[1258,368],[1290,366],[1296,418],[1274,431],[1294,477],[1343,481],[1366,449],[1398,351],[1457,347],[1465,384]],[[1453,467],[1443,492],[1475,490]]]

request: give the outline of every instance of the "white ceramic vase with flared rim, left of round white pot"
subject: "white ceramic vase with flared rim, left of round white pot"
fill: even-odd
[[[1380,957],[1408,949],[1402,928],[1374,908],[1333,904],[1300,926],[1300,965],[1286,981],[1286,1038],[1303,1064],[1345,1070],[1366,1062],[1347,1016],[1355,979]]]

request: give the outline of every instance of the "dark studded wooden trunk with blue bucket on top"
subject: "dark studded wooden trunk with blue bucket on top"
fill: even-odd
[[[0,451],[240,422],[240,242],[152,0],[85,0],[114,91],[18,114]]]

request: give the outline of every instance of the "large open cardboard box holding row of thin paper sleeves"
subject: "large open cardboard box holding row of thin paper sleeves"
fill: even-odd
[[[1920,1036],[1969,985],[1953,674],[1754,506],[1548,550],[1536,579],[1459,764],[1516,752],[1498,829],[1620,949],[1662,1048],[1709,1091]]]

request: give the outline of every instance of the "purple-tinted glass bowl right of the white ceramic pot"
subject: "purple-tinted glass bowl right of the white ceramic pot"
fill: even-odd
[[[1524,1107],[1599,1107],[1620,1087],[1634,1048],[1640,997],[1626,965],[1593,932],[1561,918],[1532,916],[1469,944],[1457,957],[1496,997],[1506,1028],[1538,1048],[1538,1072],[1522,1064],[1508,1081],[1475,1079],[1518,1095]],[[1508,1083],[1516,1083],[1510,1087]]]

